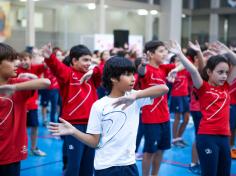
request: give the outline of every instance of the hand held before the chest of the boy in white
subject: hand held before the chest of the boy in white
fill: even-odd
[[[116,100],[114,103],[112,103],[112,106],[114,108],[123,105],[123,107],[121,108],[122,110],[125,110],[127,107],[129,107],[134,101],[136,100],[136,97],[134,94],[129,95],[129,96],[123,96],[118,98],[118,100]]]

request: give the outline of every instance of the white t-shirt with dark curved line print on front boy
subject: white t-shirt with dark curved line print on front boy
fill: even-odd
[[[150,98],[138,99],[122,111],[122,105],[113,108],[116,100],[105,96],[93,104],[90,112],[87,133],[101,134],[95,150],[96,170],[135,163],[140,108],[153,103]]]

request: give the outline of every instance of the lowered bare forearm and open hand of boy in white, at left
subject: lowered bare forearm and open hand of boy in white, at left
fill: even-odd
[[[59,118],[61,123],[53,123],[50,122],[48,126],[48,130],[54,136],[64,136],[64,135],[72,135],[76,139],[80,140],[84,144],[96,148],[99,143],[100,134],[88,134],[83,133],[77,130],[73,125],[71,125],[66,120]]]

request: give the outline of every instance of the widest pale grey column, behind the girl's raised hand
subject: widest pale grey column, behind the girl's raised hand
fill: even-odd
[[[160,32],[162,41],[181,42],[182,0],[161,0]]]

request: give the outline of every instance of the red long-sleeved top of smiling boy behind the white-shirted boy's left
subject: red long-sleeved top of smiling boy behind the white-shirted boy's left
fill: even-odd
[[[61,117],[72,124],[87,124],[92,104],[97,100],[96,88],[101,83],[101,71],[93,69],[92,77],[80,85],[84,73],[67,67],[54,54],[45,59],[46,64],[56,76],[62,97]]]

